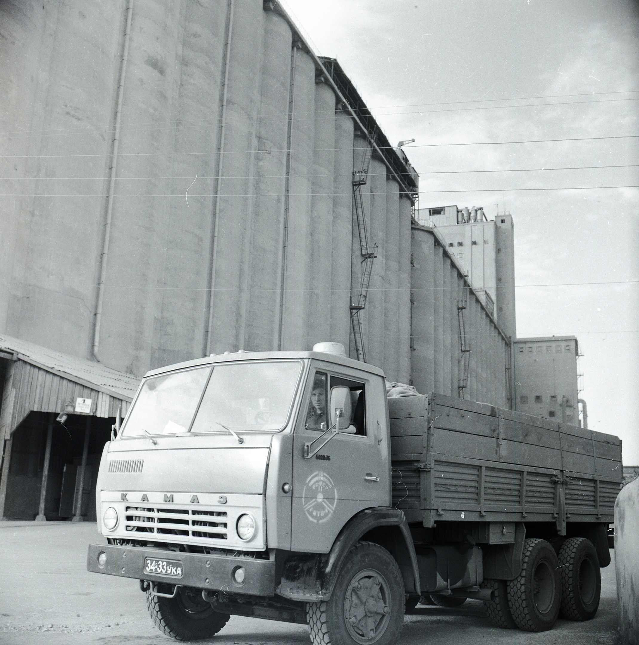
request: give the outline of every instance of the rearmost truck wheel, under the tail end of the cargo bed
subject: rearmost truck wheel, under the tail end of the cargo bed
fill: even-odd
[[[602,577],[593,543],[571,537],[559,551],[562,614],[569,620],[590,620],[599,608]]]

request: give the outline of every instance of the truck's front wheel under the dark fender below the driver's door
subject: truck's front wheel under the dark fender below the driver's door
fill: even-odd
[[[313,645],[394,645],[404,620],[405,592],[392,555],[358,542],[341,566],[330,600],[309,602]]]

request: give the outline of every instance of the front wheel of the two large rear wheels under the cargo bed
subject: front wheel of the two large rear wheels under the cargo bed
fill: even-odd
[[[523,543],[522,571],[508,582],[508,606],[521,630],[546,631],[557,620],[562,595],[558,566],[557,555],[545,540]]]

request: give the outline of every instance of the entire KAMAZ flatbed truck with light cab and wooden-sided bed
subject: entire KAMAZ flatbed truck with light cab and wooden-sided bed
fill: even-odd
[[[225,353],[145,375],[87,568],[178,640],[241,615],[392,644],[420,598],[543,631],[595,615],[621,479],[617,437],[387,384],[339,344]]]

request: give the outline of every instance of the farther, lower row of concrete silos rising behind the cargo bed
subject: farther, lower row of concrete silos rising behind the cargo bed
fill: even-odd
[[[461,313],[471,349],[463,397],[507,407],[507,338],[445,245],[433,228],[412,226],[411,382],[419,392],[458,396]]]

